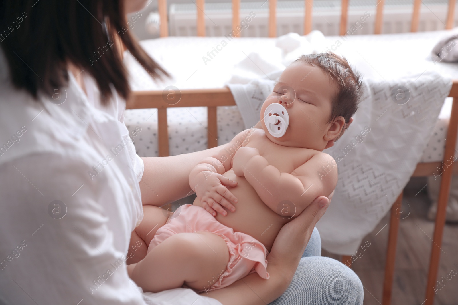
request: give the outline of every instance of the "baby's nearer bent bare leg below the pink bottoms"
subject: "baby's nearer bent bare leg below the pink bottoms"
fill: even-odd
[[[159,292],[183,284],[204,290],[216,283],[228,262],[229,251],[224,239],[197,231],[170,236],[127,270],[143,291]]]

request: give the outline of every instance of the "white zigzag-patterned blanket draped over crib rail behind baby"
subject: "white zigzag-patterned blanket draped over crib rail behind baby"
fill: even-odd
[[[256,54],[248,56],[256,58]],[[284,54],[279,60],[288,64],[290,59]],[[262,70],[260,65],[258,59],[258,70]],[[253,69],[245,76],[248,72],[259,74]],[[259,121],[261,105],[280,72],[272,71],[248,84],[228,85],[245,127]],[[392,96],[398,93],[393,94],[396,86],[408,88],[410,98],[404,105],[393,101]],[[451,86],[451,79],[429,70],[397,80],[364,80],[354,123],[332,148],[325,150],[338,162],[339,173],[333,202],[317,224],[322,245],[328,251],[354,254],[362,238],[390,209],[420,161]]]

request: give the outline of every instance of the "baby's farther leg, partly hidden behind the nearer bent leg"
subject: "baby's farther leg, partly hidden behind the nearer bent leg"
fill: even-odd
[[[140,225],[132,231],[129,252],[126,261],[127,265],[140,262],[147,253],[149,243],[156,231],[165,225],[168,214],[162,208],[154,205],[143,206],[143,219]],[[133,255],[133,256],[132,256]]]

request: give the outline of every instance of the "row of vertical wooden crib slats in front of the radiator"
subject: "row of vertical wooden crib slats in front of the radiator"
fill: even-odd
[[[304,0],[304,35],[307,35],[312,30],[312,11],[313,0]],[[454,24],[455,1],[449,0],[447,7],[447,20],[445,29],[449,30]],[[277,37],[277,0],[268,0],[269,2],[269,17],[268,17],[268,37]],[[384,0],[374,0],[376,2],[376,17],[374,34],[382,33],[383,26],[383,5]],[[196,30],[197,36],[205,36],[205,0],[196,0],[197,21]],[[349,0],[342,0],[339,35],[345,35],[347,32],[348,22],[348,6]],[[421,0],[414,0],[412,21],[410,31],[417,32],[420,23],[420,7]],[[169,22],[167,18],[167,0],[158,0],[158,11],[160,17],[160,37],[169,36]],[[232,0],[232,30],[234,37],[240,37],[240,32],[236,31],[236,27],[240,26],[240,0]]]

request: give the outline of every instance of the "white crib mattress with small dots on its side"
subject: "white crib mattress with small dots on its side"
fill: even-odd
[[[447,32],[354,35],[345,41],[339,36],[328,36],[326,39],[330,49],[339,40],[339,52],[367,78],[397,79],[434,69],[441,75],[458,79],[458,64],[434,64],[430,59],[432,47]],[[226,42],[224,47],[223,40]],[[142,41],[147,53],[174,76],[172,80],[164,82],[154,82],[128,54],[125,63],[133,90],[163,90],[169,85],[180,89],[220,88],[232,77],[234,65],[251,52],[260,53],[267,59],[278,57],[281,50],[275,47],[275,43],[276,38],[253,37],[232,40],[227,37],[166,37]],[[218,53],[213,51],[217,47],[220,49]],[[212,51],[214,56],[210,59],[207,52],[212,55]],[[451,102],[448,98],[444,103],[435,132],[420,162],[442,161]],[[218,107],[217,112],[218,144],[225,144],[245,126],[237,107]],[[158,155],[157,109],[126,110],[125,124],[129,130],[138,130],[137,126],[142,128],[134,138],[138,155]],[[206,149],[206,127],[205,107],[169,108],[170,155]]]

